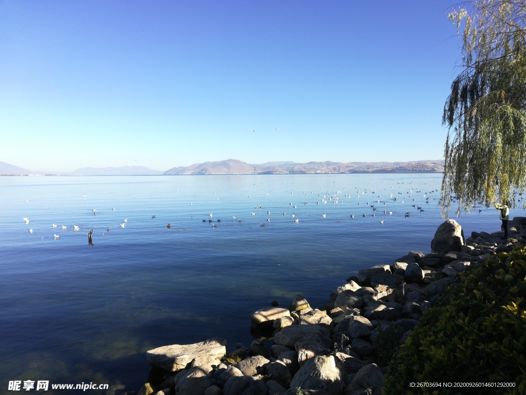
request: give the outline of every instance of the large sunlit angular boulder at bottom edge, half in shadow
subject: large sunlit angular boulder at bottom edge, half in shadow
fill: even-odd
[[[332,395],[341,395],[345,380],[333,356],[317,356],[309,359],[298,370],[290,382],[290,389],[323,390]]]

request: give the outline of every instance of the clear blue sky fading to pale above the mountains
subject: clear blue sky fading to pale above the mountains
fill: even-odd
[[[442,159],[454,4],[0,0],[0,161]]]

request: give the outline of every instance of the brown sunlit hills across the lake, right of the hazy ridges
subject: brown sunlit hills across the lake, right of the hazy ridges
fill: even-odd
[[[267,162],[248,164],[235,159],[174,167],[164,174],[329,174],[329,173],[437,173],[443,160],[412,162]]]

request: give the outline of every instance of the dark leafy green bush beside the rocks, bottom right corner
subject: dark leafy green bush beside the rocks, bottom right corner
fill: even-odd
[[[391,361],[385,394],[526,394],[526,248],[460,273]],[[410,383],[509,382],[504,388]]]

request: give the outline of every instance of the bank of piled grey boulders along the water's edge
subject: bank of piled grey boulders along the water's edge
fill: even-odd
[[[248,349],[237,345],[227,353],[226,340],[212,338],[150,350],[147,361],[162,378],[150,374],[150,383],[128,394],[379,395],[388,368],[374,361],[375,339],[392,331],[403,344],[458,273],[526,242],[526,217],[508,227],[505,240],[502,232],[466,239],[461,226],[447,220],[431,253],[410,251],[392,264],[362,269],[317,309],[296,295],[286,309],[254,312],[252,329],[271,341],[254,340]]]

